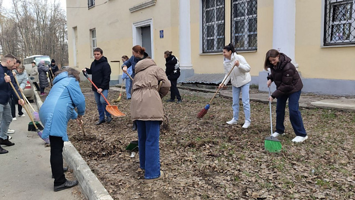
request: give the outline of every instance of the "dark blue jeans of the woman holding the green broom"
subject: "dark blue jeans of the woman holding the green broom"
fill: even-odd
[[[284,115],[285,115],[286,101],[288,99],[289,118],[294,132],[296,133],[297,136],[305,137],[307,135],[306,130],[303,126],[301,112],[299,111],[299,106],[298,106],[298,100],[300,96],[301,96],[301,90],[292,94],[282,95],[277,98],[276,132],[280,134],[284,133]]]

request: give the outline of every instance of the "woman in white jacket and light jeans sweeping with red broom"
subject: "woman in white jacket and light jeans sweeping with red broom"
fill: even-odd
[[[242,92],[242,102],[243,102],[243,110],[245,115],[245,122],[243,128],[249,128],[250,126],[250,103],[249,103],[249,82],[251,80],[250,77],[250,66],[247,63],[246,59],[238,55],[234,49],[233,44],[228,44],[223,47],[223,65],[224,65],[224,73],[226,74],[224,79],[225,81],[219,84],[219,88],[222,88],[226,85],[229,80],[232,84],[232,93],[233,93],[233,118],[230,121],[227,121],[228,124],[238,124],[239,120],[239,96]],[[229,77],[228,73],[232,70],[235,65],[233,71],[230,73]]]

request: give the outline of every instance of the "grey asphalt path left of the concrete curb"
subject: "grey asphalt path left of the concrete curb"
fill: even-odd
[[[36,109],[35,103],[31,105]],[[31,120],[25,109],[23,112],[26,117],[16,117],[10,124],[10,129],[16,131],[9,134],[15,145],[1,145],[9,153],[0,154],[0,200],[82,200],[79,186],[53,191],[50,147],[36,132],[28,131]],[[71,173],[66,176],[72,179]]]

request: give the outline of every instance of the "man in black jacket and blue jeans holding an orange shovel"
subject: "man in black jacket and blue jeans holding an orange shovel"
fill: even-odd
[[[111,114],[106,111],[107,103],[104,97],[101,96],[100,93],[103,93],[107,98],[108,89],[109,89],[109,81],[111,75],[111,67],[107,62],[107,58],[103,55],[103,50],[101,48],[94,49],[94,57],[95,60],[91,63],[90,69],[84,68],[82,71],[87,72],[92,75],[92,81],[99,88],[96,89],[94,85],[92,85],[92,90],[94,91],[95,101],[99,111],[99,121],[96,122],[96,125],[102,124],[105,121],[110,123],[112,118]],[[106,120],[105,120],[106,113]]]

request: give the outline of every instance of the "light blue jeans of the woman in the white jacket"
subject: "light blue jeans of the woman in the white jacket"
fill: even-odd
[[[239,96],[242,92],[242,102],[243,102],[243,110],[245,115],[245,120],[250,122],[250,103],[249,103],[249,83],[235,87],[232,86],[232,94],[233,94],[233,119],[239,120]]]

